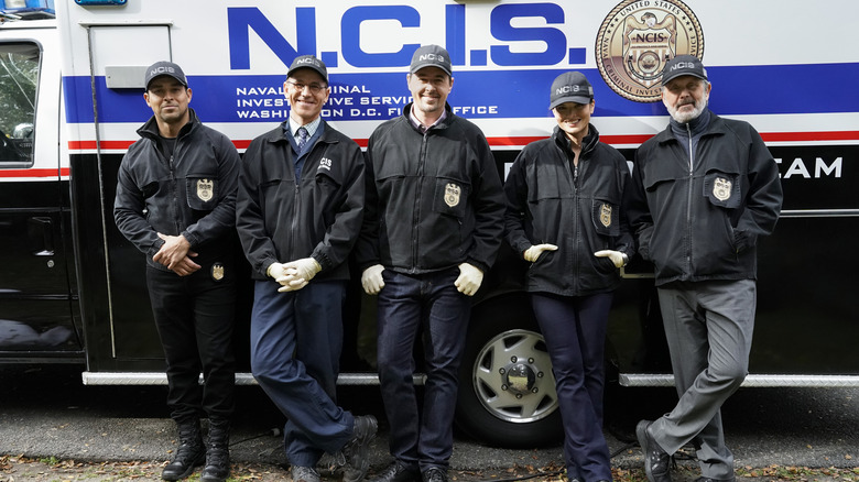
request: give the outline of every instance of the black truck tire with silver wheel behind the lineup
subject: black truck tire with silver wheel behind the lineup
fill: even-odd
[[[563,439],[555,376],[526,296],[471,315],[459,368],[457,427],[486,443],[529,448]]]

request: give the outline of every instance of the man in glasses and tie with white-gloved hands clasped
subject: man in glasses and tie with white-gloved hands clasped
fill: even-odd
[[[319,117],[330,94],[325,64],[298,56],[286,77],[290,118],[251,142],[239,178],[236,227],[255,281],[251,370],[289,419],[293,481],[318,482],[328,452],[345,462],[344,481],[358,482],[377,421],[340,408],[335,390],[363,157]]]

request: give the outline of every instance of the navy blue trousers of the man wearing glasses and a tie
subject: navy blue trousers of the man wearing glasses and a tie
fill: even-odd
[[[315,467],[352,435],[355,418],[336,404],[346,282],[312,282],[279,293],[254,285],[251,371],[286,416],[283,443],[293,465]]]

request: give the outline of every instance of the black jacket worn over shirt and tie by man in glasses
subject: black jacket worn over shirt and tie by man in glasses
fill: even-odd
[[[272,263],[312,256],[315,280],[348,280],[349,256],[361,229],[363,157],[351,139],[322,121],[295,179],[295,154],[283,124],[251,141],[244,152],[236,227],[253,277]]]

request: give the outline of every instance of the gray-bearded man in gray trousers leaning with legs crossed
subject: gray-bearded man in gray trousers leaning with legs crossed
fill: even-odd
[[[757,241],[775,227],[775,161],[747,122],[707,108],[700,59],[678,55],[662,73],[668,127],[635,153],[628,212],[656,287],[679,402],[635,429],[651,482],[671,481],[671,456],[692,442],[703,481],[733,481],[720,408],[749,368]]]

